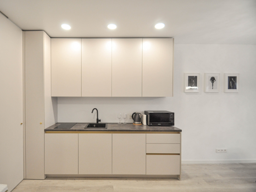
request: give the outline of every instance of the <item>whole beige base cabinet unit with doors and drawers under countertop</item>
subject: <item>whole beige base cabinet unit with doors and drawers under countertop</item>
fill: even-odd
[[[181,134],[46,132],[44,143],[48,177],[180,179]]]

